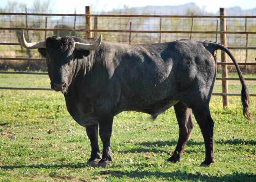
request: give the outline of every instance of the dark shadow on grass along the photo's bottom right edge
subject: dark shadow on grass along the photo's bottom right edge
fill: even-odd
[[[196,174],[191,174],[188,172],[182,172],[180,170],[177,170],[175,172],[149,172],[149,171],[130,171],[130,172],[123,172],[120,170],[106,170],[102,171],[100,174],[110,174],[111,176],[115,178],[122,178],[123,176],[127,176],[127,178],[161,178],[161,180],[170,180],[170,181],[176,181],[176,180],[184,180],[184,181],[256,181],[256,175],[255,174],[249,174],[249,173],[240,173],[240,172],[234,172],[232,174],[227,174],[223,176],[209,176],[208,174],[201,174],[197,172]]]

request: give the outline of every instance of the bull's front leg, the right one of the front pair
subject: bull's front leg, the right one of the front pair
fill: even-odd
[[[112,133],[112,116],[103,117],[99,121],[100,125],[100,138],[103,144],[102,159],[99,162],[99,166],[106,168],[110,166],[110,161],[112,161],[112,152],[110,149],[110,137]]]

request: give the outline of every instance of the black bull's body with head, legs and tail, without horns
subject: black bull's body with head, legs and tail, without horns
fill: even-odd
[[[205,143],[206,157],[201,166],[214,162],[214,121],[209,102],[216,78],[217,49],[225,51],[236,66],[242,84],[243,113],[252,121],[244,78],[236,60],[223,45],[178,40],[141,45],[102,42],[93,51],[75,48],[75,42],[94,41],[52,36],[47,38],[46,48],[39,49],[47,58],[52,89],[62,91],[68,112],[86,127],[92,147],[90,165],[106,167],[112,161],[110,137],[115,115],[139,111],[155,119],[172,106],[180,134],[168,161],[181,160],[194,125],[194,113]],[[101,160],[98,127],[103,143]]]

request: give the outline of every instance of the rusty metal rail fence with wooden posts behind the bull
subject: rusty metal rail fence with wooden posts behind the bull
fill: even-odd
[[[98,32],[103,34],[104,40],[111,42],[120,42],[128,44],[138,44],[146,42],[169,42],[180,38],[192,38],[195,40],[202,40],[209,38],[214,42],[221,42],[223,45],[232,49],[232,53],[239,57],[239,65],[244,65],[245,70],[248,66],[255,66],[254,61],[255,49],[256,49],[256,32],[253,30],[256,27],[256,16],[226,16],[225,10],[220,8],[220,15],[208,16],[208,15],[133,15],[133,14],[91,14],[90,7],[86,9],[86,14],[37,14],[37,13],[0,13],[0,18],[5,22],[0,27],[0,32],[4,34],[4,38],[10,37],[10,42],[0,39],[0,46],[18,46],[20,43],[18,35],[22,29],[27,30],[27,39],[29,41],[38,41],[35,39],[45,39],[48,33],[52,31],[54,34],[60,35],[75,35],[80,37],[97,37]],[[40,17],[40,24],[36,25],[35,22],[28,21],[30,16]],[[7,17],[7,18],[6,18]],[[72,20],[62,22],[54,19],[54,17],[71,17]],[[80,18],[80,19],[79,19]],[[139,19],[138,19],[139,18]],[[11,20],[16,20],[14,24]],[[10,20],[10,21],[8,21]],[[158,22],[153,26],[150,22]],[[201,23],[200,21],[204,22]],[[205,20],[205,21],[203,21]],[[228,20],[228,21],[227,21]],[[233,20],[240,22],[238,26],[234,26]],[[188,23],[184,25],[184,21]],[[56,23],[53,26],[53,22]],[[182,24],[182,30],[177,27],[173,28],[173,25],[178,26],[180,22]],[[228,23],[227,23],[228,22]],[[170,25],[168,26],[168,23]],[[34,26],[36,25],[36,26]],[[69,26],[64,26],[69,25]],[[70,28],[72,25],[72,28]],[[197,27],[197,28],[196,28]],[[229,28],[231,27],[231,28]],[[237,31],[240,28],[240,31]],[[174,30],[175,29],[175,30]],[[186,30],[184,30],[186,29]],[[228,30],[229,31],[228,31]],[[6,33],[7,32],[7,33]],[[11,33],[16,34],[16,37],[9,35]],[[66,34],[64,34],[66,32]],[[93,33],[93,34],[92,34]],[[34,35],[34,36],[33,36]],[[198,36],[196,36],[198,35]],[[209,35],[209,37],[207,37]],[[220,35],[220,36],[219,36]],[[226,38],[226,36],[228,36]],[[250,37],[249,37],[250,36]],[[209,40],[208,39],[208,40]],[[16,42],[15,42],[16,40]],[[17,42],[18,40],[18,42]],[[239,40],[240,42],[237,42]],[[255,42],[254,42],[255,41]],[[248,46],[252,45],[252,46]],[[13,47],[12,47],[13,48]],[[14,49],[15,51],[20,51]],[[2,61],[45,61],[45,59],[38,58],[38,54],[28,53],[27,50],[21,50],[23,54],[20,56],[5,56],[0,57]],[[27,55],[24,57],[24,52]],[[242,54],[241,54],[242,52]],[[240,56],[237,54],[240,53]],[[221,59],[218,57],[217,65],[222,67],[222,77],[217,77],[217,80],[222,81],[223,92],[213,93],[213,95],[222,95],[224,106],[228,106],[228,96],[238,96],[240,94],[228,93],[228,80],[239,80],[238,78],[228,78],[227,65],[234,65],[232,62],[228,62],[230,59],[222,55]],[[221,62],[220,62],[221,61]],[[246,68],[247,67],[247,68]],[[12,73],[12,74],[47,74],[46,72],[22,72],[22,71],[0,71],[0,73]],[[255,81],[254,78],[247,78],[246,80]],[[16,88],[16,87],[0,87],[0,89],[28,89],[28,90],[51,90],[43,88]],[[256,94],[251,94],[256,96]]]

